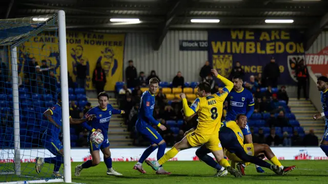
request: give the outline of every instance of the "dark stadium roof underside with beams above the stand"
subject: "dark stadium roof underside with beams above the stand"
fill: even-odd
[[[111,32],[156,32],[158,40],[170,29],[221,28],[301,29],[308,40],[328,23],[325,0],[10,0],[2,3],[1,19],[29,17],[65,10],[68,29]],[[139,18],[139,24],[110,18]],[[193,18],[220,19],[215,24],[192,23]],[[293,19],[292,24],[267,24],[265,19]]]

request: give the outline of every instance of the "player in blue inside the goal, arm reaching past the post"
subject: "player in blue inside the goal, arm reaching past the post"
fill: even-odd
[[[44,163],[48,163],[55,165],[52,174],[53,177],[63,177],[63,175],[59,173],[59,168],[61,164],[64,164],[63,144],[61,144],[61,142],[59,141],[59,133],[61,131],[61,128],[63,127],[63,124],[61,122],[61,114],[61,94],[58,93],[57,104],[43,113],[43,116],[46,118],[46,120],[48,120],[48,122],[45,123],[47,124],[47,130],[44,132],[41,140],[43,146],[47,150],[49,150],[50,153],[55,155],[55,157],[36,157],[35,170],[37,173],[41,172]],[[70,124],[80,124],[86,121],[91,121],[94,117],[95,115],[92,114],[85,119],[73,119],[71,117],[69,117],[69,119]]]

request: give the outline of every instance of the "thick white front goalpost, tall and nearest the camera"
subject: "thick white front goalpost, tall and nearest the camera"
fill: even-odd
[[[67,76],[67,50],[66,50],[66,22],[65,12],[58,11],[59,27],[59,60],[60,60],[60,87],[61,111],[63,112],[63,145],[64,145],[64,180],[72,182],[71,174],[71,140],[69,122],[68,76]]]

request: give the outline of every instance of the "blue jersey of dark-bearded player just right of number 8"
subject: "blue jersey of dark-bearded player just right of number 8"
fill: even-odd
[[[241,91],[231,90],[227,97],[228,110],[226,121],[233,121],[237,114],[246,114],[248,106],[254,105],[254,98],[251,91],[243,88]]]

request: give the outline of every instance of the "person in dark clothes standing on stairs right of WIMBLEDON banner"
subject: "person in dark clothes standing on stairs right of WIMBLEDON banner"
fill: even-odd
[[[308,89],[306,88],[306,84],[308,83],[309,73],[308,68],[304,64],[304,61],[300,61],[296,66],[295,75],[297,79],[297,99],[300,99],[301,96],[301,88],[303,88],[304,98],[307,100],[308,97]]]

